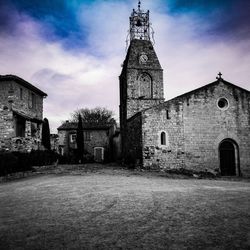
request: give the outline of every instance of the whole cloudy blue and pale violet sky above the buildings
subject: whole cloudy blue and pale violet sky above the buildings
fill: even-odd
[[[118,120],[121,63],[137,0],[0,0],[0,74],[48,97],[52,132],[81,107]],[[250,89],[249,0],[142,0],[170,99],[223,78]]]

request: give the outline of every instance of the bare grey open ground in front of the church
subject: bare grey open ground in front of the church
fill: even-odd
[[[249,182],[41,173],[0,184],[0,249],[250,249]]]

